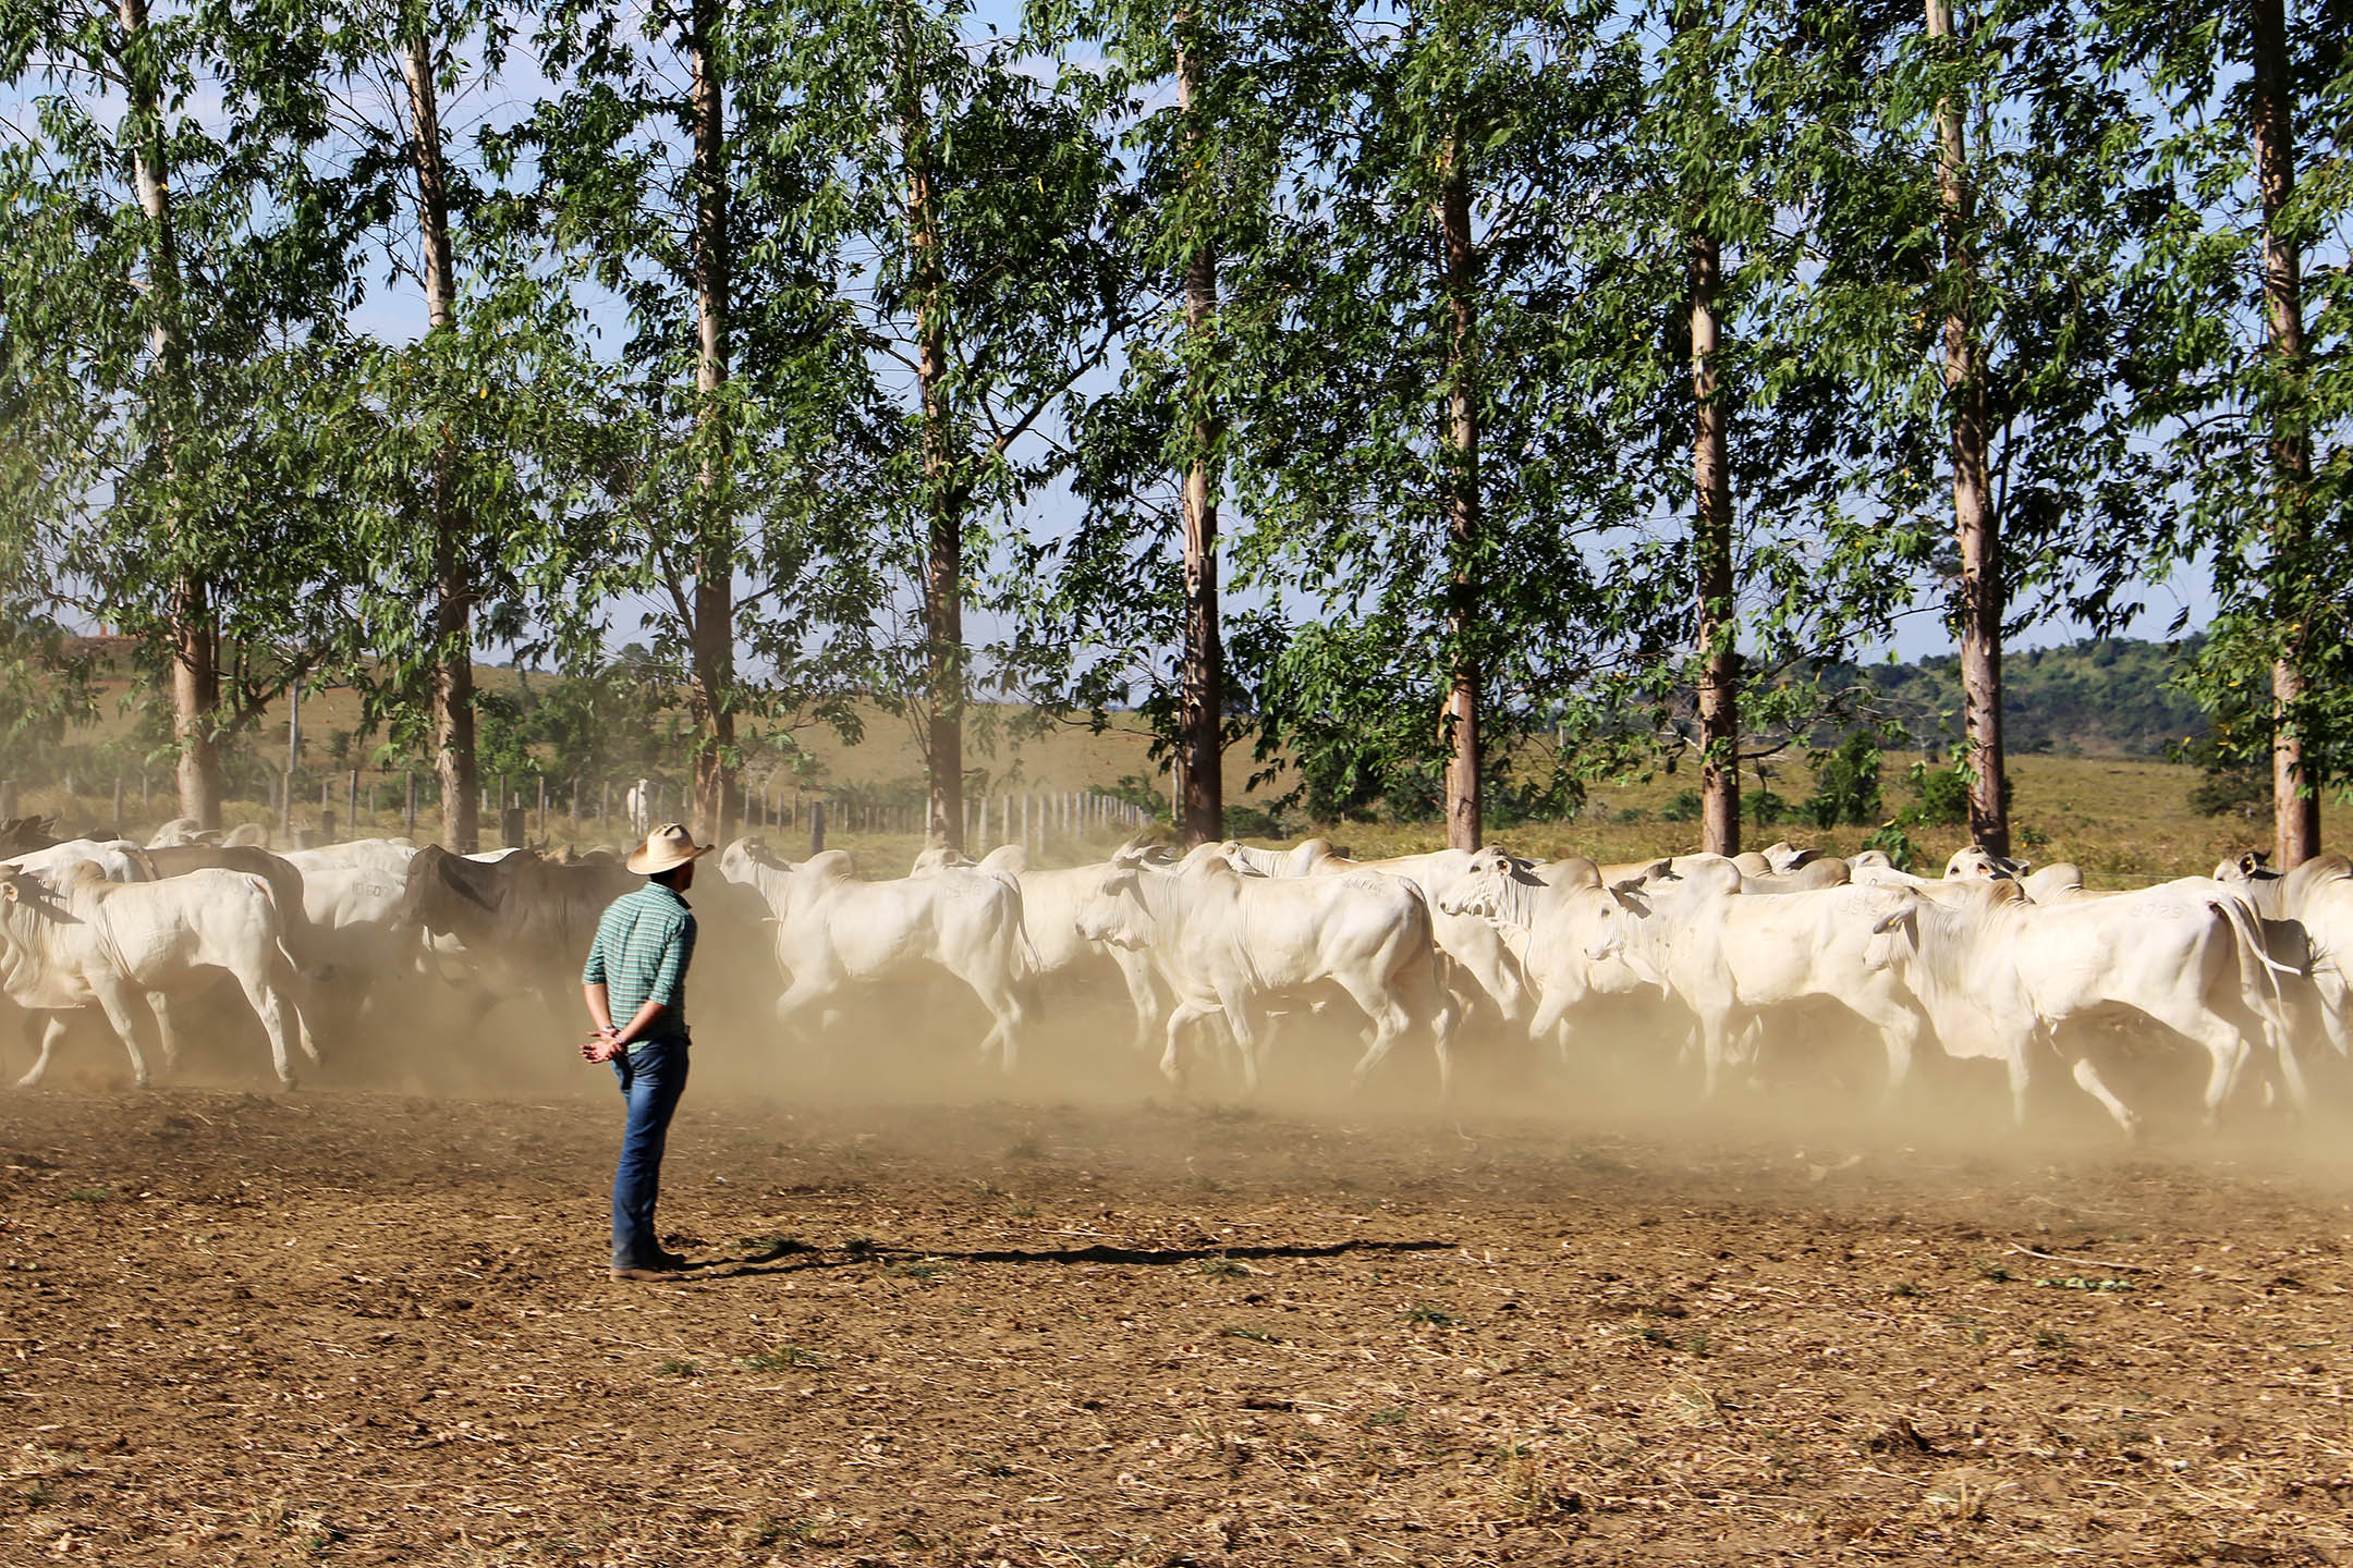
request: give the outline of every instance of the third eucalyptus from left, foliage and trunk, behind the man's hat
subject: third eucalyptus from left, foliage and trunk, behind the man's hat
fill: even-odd
[[[579,592],[647,604],[649,651],[687,691],[706,837],[734,827],[739,722],[840,712],[878,602],[859,503],[885,442],[838,287],[831,153],[795,82],[812,21],[551,5],[534,47],[553,89],[487,139],[518,186],[494,226],[628,317],[584,449],[614,534]]]

